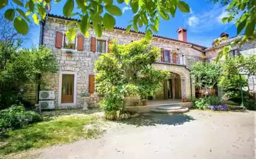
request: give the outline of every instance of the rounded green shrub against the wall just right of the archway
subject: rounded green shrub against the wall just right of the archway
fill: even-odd
[[[218,82],[220,73],[219,65],[208,62],[196,62],[191,69],[193,83],[199,89],[212,89]]]

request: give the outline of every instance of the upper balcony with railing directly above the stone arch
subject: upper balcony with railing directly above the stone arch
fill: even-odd
[[[169,56],[161,56],[156,62],[163,64],[185,65],[187,68],[191,68],[194,63],[199,61],[202,62],[202,59],[199,56],[170,53]]]

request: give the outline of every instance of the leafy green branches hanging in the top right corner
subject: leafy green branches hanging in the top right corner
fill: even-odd
[[[230,45],[223,47],[223,50],[219,52],[216,61],[219,61],[223,55],[227,56],[231,46],[242,46],[243,43],[256,38],[256,1],[255,0],[210,0],[214,3],[220,2],[222,5],[227,6],[226,11],[229,12],[227,17],[223,17],[223,23],[229,23],[233,20],[236,22],[237,35],[240,35],[245,30],[245,36],[242,40],[233,41]],[[218,47],[221,41],[226,38],[218,38],[214,41],[214,47]]]

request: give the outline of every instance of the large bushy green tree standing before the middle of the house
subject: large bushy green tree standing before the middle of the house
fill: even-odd
[[[96,89],[104,95],[100,107],[105,115],[123,110],[129,95],[147,98],[162,88],[164,79],[170,73],[155,70],[153,64],[160,55],[160,49],[149,41],[140,40],[120,45],[112,44],[111,53],[105,53],[96,61]]]

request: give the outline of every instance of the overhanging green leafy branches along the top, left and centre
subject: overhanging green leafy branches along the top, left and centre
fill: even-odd
[[[55,0],[55,3],[61,0]],[[20,34],[27,34],[28,24],[32,17],[34,23],[39,24],[40,20],[46,17],[45,7],[51,4],[51,0],[46,1],[19,1],[19,0],[1,0],[0,9],[5,10],[5,18],[13,21],[14,28]],[[78,28],[84,35],[88,35],[88,29],[91,22],[96,35],[101,37],[102,25],[105,29],[112,29],[116,24],[114,16],[122,16],[120,5],[125,3],[134,13],[133,19],[127,29],[133,28],[138,31],[139,27],[145,26],[146,39],[152,38],[152,31],[158,32],[159,17],[169,20],[174,17],[178,8],[183,13],[189,13],[190,8],[186,2],[180,0],[67,0],[63,7],[63,15],[66,17],[77,16],[81,21],[77,21]],[[74,11],[77,6],[77,12]],[[75,22],[72,22],[75,23]],[[72,25],[72,23],[70,25]],[[67,31],[67,38],[72,41],[75,38],[75,28]]]

